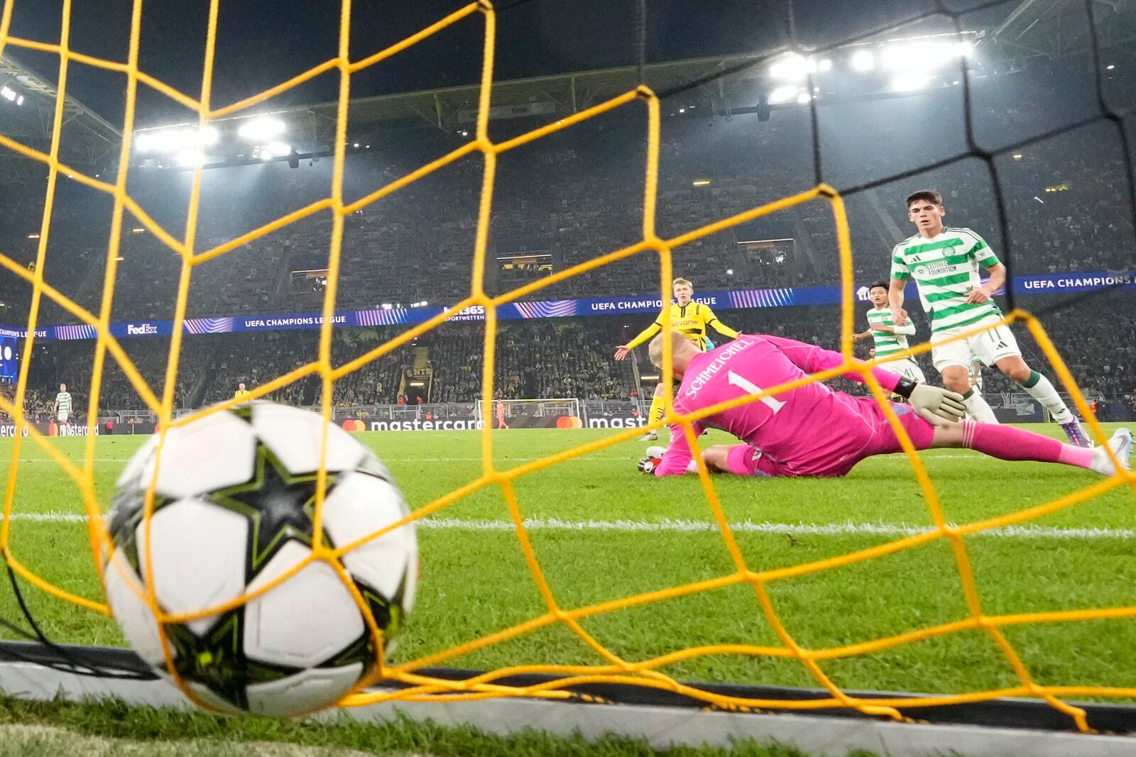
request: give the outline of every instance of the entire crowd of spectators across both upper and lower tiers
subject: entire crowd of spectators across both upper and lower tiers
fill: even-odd
[[[996,95],[1014,87],[1005,107],[976,126],[989,144],[1019,144],[1051,125],[1052,82],[993,78],[982,86]],[[1009,90],[1006,90],[1006,93]],[[838,109],[820,109],[820,174],[836,186],[878,180],[966,151],[953,90],[907,99],[860,103],[870,129],[827,124]],[[997,99],[995,96],[995,99]],[[985,111],[984,111],[985,112]],[[849,116],[851,118],[851,116]],[[1050,119],[1050,120],[1046,120]],[[1068,120],[1068,119],[1067,119]],[[919,124],[947,124],[928,140]],[[535,125],[535,124],[534,124]],[[1096,129],[1096,131],[1094,131]],[[768,121],[755,115],[732,118],[679,118],[665,113],[660,143],[657,233],[667,238],[730,217],[812,186],[811,125],[807,109],[778,110]],[[440,131],[407,131],[376,138],[349,157],[344,191],[349,200],[406,175],[454,149],[463,138]],[[942,144],[938,144],[938,143]],[[1094,149],[1088,150],[1086,144]],[[955,145],[955,146],[952,146]],[[902,197],[913,190],[942,191],[949,226],[967,226],[987,238],[1014,274],[1130,271],[1136,233],[1131,196],[1116,135],[1084,127],[1067,135],[1025,143],[991,165],[970,157],[878,188],[845,202],[858,284],[886,277],[888,249],[911,230]],[[646,141],[642,115],[615,112],[579,124],[501,157],[494,183],[492,220],[484,271],[485,288],[496,294],[552,270],[563,270],[636,243],[642,234]],[[331,161],[299,168],[270,163],[206,171],[195,250],[204,251],[326,195]],[[382,303],[451,304],[470,292],[473,250],[482,196],[483,160],[473,153],[366,205],[344,218],[336,306],[373,309]],[[136,169],[131,192],[165,228],[184,228],[183,174]],[[698,185],[695,185],[695,180]],[[703,180],[704,179],[704,180]],[[10,199],[0,218],[0,250],[31,263],[40,245],[42,169],[28,163],[8,171],[0,191]],[[997,192],[995,191],[997,190]],[[39,203],[39,205],[36,204]],[[1000,205],[1001,203],[1001,205]],[[78,304],[97,312],[102,298],[110,201],[60,184],[56,197],[44,279]],[[1002,212],[999,212],[999,208]],[[127,218],[117,261],[111,320],[170,319],[184,260],[156,235]],[[187,317],[291,313],[318,310],[326,283],[333,219],[324,211],[296,220],[192,268]],[[769,246],[743,242],[779,239]],[[1009,243],[1009,254],[1005,244]],[[510,267],[510,260],[540,256],[540,266]],[[832,204],[815,200],[740,224],[674,249],[674,274],[700,291],[747,289],[838,283],[837,235]],[[653,251],[610,263],[544,287],[527,298],[556,300],[654,294],[659,258]],[[1130,402],[1136,396],[1136,317],[1133,294],[1121,292],[1055,311],[1045,320],[1080,385]],[[1029,298],[1020,304],[1044,298]],[[30,288],[0,277],[0,322],[26,318]],[[866,305],[864,305],[866,306]],[[858,305],[859,308],[859,305]],[[721,311],[735,328],[837,346],[838,313],[833,306]],[[858,322],[862,314],[858,311]],[[549,319],[499,325],[494,385],[502,398],[574,396],[629,397],[636,392],[632,363],[611,360],[613,346],[649,322],[633,318]],[[75,322],[47,298],[40,323]],[[920,328],[926,329],[924,322]],[[378,348],[400,329],[336,329],[333,364]],[[1024,350],[1041,353],[1020,328]],[[926,331],[924,331],[926,333]],[[407,401],[402,372],[428,361],[429,399],[471,402],[479,396],[484,323],[450,322],[368,362],[340,379],[339,405]],[[168,339],[123,340],[143,379],[161,393]],[[864,345],[858,345],[864,350]],[[643,351],[640,351],[643,352]],[[182,347],[175,404],[199,406],[232,396],[236,384],[250,387],[310,364],[318,354],[318,331],[190,336]],[[866,353],[864,353],[866,355]],[[924,370],[934,376],[930,361]],[[90,343],[41,342],[33,358],[36,395],[30,407],[50,402],[50,387],[66,381],[83,406],[89,394]],[[137,393],[108,359],[100,404],[141,407]],[[645,363],[641,372],[653,372]],[[1014,387],[991,372],[986,390]],[[278,388],[273,398],[293,404],[319,401],[320,378],[309,373]],[[53,396],[53,395],[52,395]]]

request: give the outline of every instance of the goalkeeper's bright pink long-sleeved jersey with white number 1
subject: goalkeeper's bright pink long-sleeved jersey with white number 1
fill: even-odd
[[[844,362],[838,352],[776,336],[740,334],[733,342],[695,355],[686,367],[675,393],[675,410],[690,413],[719,402],[758,394],[810,373],[836,368]],[[872,375],[887,390],[900,376],[882,368]],[[859,373],[846,378],[863,381]],[[788,476],[811,476],[827,470],[835,456],[853,456],[874,435],[863,398],[834,392],[819,381],[769,395],[740,407],[707,415],[694,423],[728,431],[759,447],[762,454]],[[868,401],[875,403],[874,399]],[[670,446],[655,476],[686,472],[691,448],[683,428],[670,428]]]

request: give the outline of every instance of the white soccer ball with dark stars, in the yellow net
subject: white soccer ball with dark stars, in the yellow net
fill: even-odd
[[[168,678],[144,591],[149,553],[157,604],[190,614],[256,591],[311,554],[323,419],[257,402],[152,438],[118,479],[109,514],[107,600],[134,650]],[[153,516],[143,521],[158,465]],[[327,428],[323,539],[343,547],[409,513],[370,449]],[[418,546],[404,524],[337,558],[368,605],[368,630],[346,583],[316,560],[233,609],[165,623],[173,666],[206,705],[228,713],[296,715],[334,703],[371,673],[414,605]]]

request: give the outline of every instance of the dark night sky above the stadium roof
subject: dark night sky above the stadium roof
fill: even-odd
[[[955,3],[975,5],[972,0]],[[194,96],[200,92],[208,5],[206,0],[148,0],[143,6],[142,69]],[[356,0],[351,56],[356,59],[379,50],[463,5],[461,0]],[[634,64],[636,6],[636,0],[529,0],[502,10],[495,78]],[[793,14],[802,43],[832,44],[913,17],[930,6],[926,0],[795,0]],[[131,7],[130,0],[74,0],[72,49],[125,60]],[[334,0],[222,0],[214,103],[242,99],[333,57],[339,8]],[[16,0],[11,33],[55,42],[60,18],[59,0]],[[938,31],[944,20],[937,20]],[[768,51],[788,42],[788,0],[648,0],[646,28],[649,61]],[[352,95],[474,83],[483,33],[482,16],[469,17],[354,76]],[[56,77],[52,56],[22,49],[9,52],[47,78]],[[276,103],[333,100],[337,86],[337,76],[326,74]],[[190,118],[179,106],[142,90],[139,125]],[[77,66],[69,74],[68,91],[111,123],[122,123],[120,75]]]

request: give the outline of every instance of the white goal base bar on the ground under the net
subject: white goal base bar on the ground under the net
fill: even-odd
[[[57,697],[72,701],[118,699],[134,706],[194,708],[165,681],[75,675],[27,662],[0,662],[0,690],[20,699],[41,701]],[[892,757],[941,757],[944,754],[960,757],[1130,757],[1136,754],[1136,737],[537,699],[385,703],[328,709],[312,717],[335,722],[343,716],[374,723],[403,716],[445,726],[473,726],[498,735],[532,729],[561,737],[578,734],[594,741],[615,734],[643,739],[657,749],[702,745],[729,747],[738,740],[752,739],[759,743],[796,747],[810,757],[845,757],[854,749]]]

